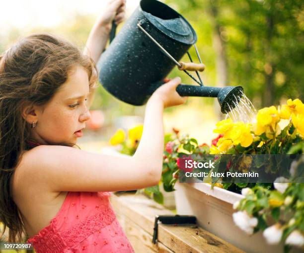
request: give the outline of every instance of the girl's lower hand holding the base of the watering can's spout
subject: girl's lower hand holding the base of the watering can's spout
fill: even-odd
[[[176,87],[180,83],[180,77],[176,77],[168,83],[162,84],[153,92],[149,100],[160,98],[164,108],[185,103],[188,97],[180,96],[176,91]]]

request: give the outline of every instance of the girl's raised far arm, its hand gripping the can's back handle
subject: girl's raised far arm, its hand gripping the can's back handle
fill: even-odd
[[[126,0],[109,0],[103,12],[97,18],[87,38],[83,54],[91,57],[97,64],[103,52],[112,28],[112,21],[121,23],[125,17]],[[88,96],[88,107],[91,106],[96,88],[92,88]]]

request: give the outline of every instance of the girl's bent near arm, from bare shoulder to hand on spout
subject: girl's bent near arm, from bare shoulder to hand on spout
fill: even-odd
[[[35,183],[43,190],[121,191],[158,183],[162,171],[163,108],[182,104],[187,97],[176,92],[181,80],[160,86],[150,97],[144,131],[133,156],[101,155],[65,146],[38,146],[24,154],[26,166],[16,181]],[[14,179],[15,180],[15,179]]]

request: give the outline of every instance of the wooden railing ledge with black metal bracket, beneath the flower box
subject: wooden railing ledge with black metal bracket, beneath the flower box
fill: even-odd
[[[174,215],[152,199],[134,193],[114,193],[110,201],[136,253],[244,253],[193,225],[158,224],[158,243],[152,243],[155,215]]]

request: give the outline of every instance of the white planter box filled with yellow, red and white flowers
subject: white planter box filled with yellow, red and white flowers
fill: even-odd
[[[198,145],[187,135],[176,135],[166,144],[162,181],[165,190],[176,189],[177,213],[196,215],[203,228],[246,252],[288,252],[293,246],[294,251],[302,252],[304,183],[289,182],[303,178],[303,167],[299,169],[304,163],[302,156],[302,160],[285,169],[286,177],[279,177],[274,183],[234,183],[211,176],[203,178],[205,183],[179,183],[177,174],[182,171],[184,175],[185,169],[192,171],[181,164],[204,153],[239,154],[238,160],[231,159],[226,169],[240,172],[253,166],[255,154],[303,154],[303,127],[304,105],[299,99],[289,99],[282,107],[259,110],[251,123],[230,119],[218,122],[214,132],[220,135],[212,141],[211,148]],[[251,159],[246,155],[251,155]],[[268,162],[261,162],[265,170],[276,172],[276,164]]]

